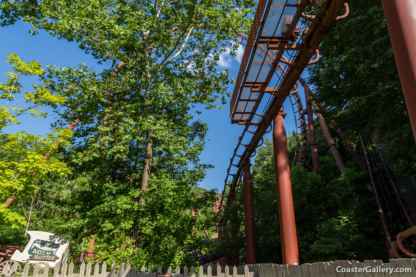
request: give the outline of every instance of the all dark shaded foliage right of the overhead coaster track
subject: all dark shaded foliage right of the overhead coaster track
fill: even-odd
[[[373,134],[375,145],[387,144],[385,158],[401,164],[396,170],[414,176],[415,142],[381,1],[348,3],[348,17],[334,23],[319,46],[318,62],[307,69],[313,99],[325,107],[326,110],[319,112],[327,123],[334,120],[357,148],[361,148],[357,144],[359,137]],[[373,197],[366,188],[369,182],[366,174],[331,130],[347,167],[340,176],[322,130],[316,123],[315,127],[322,175],[301,167],[292,171],[302,262],[385,260],[381,223]],[[288,137],[292,154],[294,142],[294,135]],[[309,146],[307,153],[310,153]],[[307,160],[312,164],[310,154]],[[277,204],[273,202],[276,190],[270,141],[260,148],[253,162],[253,185],[258,262],[279,261],[281,254],[275,249],[280,248],[280,228]],[[229,225],[240,230],[244,228],[242,201],[240,193],[234,207],[238,220],[228,218]],[[238,243],[244,248],[243,236],[226,240],[229,245]]]

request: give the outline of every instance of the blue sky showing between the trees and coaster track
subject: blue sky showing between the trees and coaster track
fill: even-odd
[[[28,30],[30,25],[17,22],[15,25],[0,27],[0,75],[1,80],[5,78],[5,73],[12,71],[12,67],[6,62],[6,53],[16,53],[23,61],[39,60],[42,66],[46,64],[56,66],[76,66],[78,62],[95,66],[96,70],[104,68],[106,65],[97,64],[96,60],[89,54],[85,54],[83,50],[78,48],[75,42],[67,42],[66,40],[58,40],[46,32],[40,31],[39,34],[32,36]],[[230,56],[224,53],[218,62],[218,71],[228,69],[230,78],[236,79],[240,68],[243,47],[241,47],[236,56]],[[302,74],[306,76],[306,74]],[[36,82],[36,78],[22,78],[22,84],[28,85]],[[228,88],[232,93],[234,85]],[[302,87],[299,94],[304,101],[304,93]],[[230,101],[230,99],[227,99]],[[2,103],[3,100],[0,100]],[[3,105],[3,103],[1,104]],[[287,113],[285,118],[286,132],[291,133],[295,129],[292,108],[289,99],[284,103],[284,109]],[[223,190],[226,170],[233,155],[234,148],[237,146],[238,137],[243,132],[244,126],[231,124],[229,103],[225,104],[223,109],[204,110],[199,116],[202,121],[207,122],[209,126],[207,145],[201,154],[201,162],[212,164],[213,169],[208,169],[206,178],[200,183],[200,186],[206,189]],[[26,131],[35,135],[45,135],[50,131],[50,124],[54,122],[54,115],[51,114],[46,119],[34,119],[29,116],[20,118],[21,125],[14,126],[4,130],[8,133]],[[271,135],[271,133],[267,134]],[[266,137],[267,137],[266,135]],[[208,140],[209,139],[209,140]],[[292,157],[290,157],[292,159]]]

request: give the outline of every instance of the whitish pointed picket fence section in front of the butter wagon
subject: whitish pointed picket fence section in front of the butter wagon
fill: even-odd
[[[30,272],[32,271],[30,270],[30,267],[33,268],[33,272]],[[203,274],[204,269],[202,266],[199,267],[199,274],[195,274],[195,268],[193,266],[190,270],[188,270],[188,267],[185,266],[182,271],[181,268],[177,266],[175,268],[175,272],[172,272],[172,268],[168,267],[166,272],[162,273],[161,267],[158,267],[156,272],[153,272],[152,267],[149,267],[147,270],[145,267],[137,269],[135,266],[131,267],[130,263],[124,267],[124,263],[122,262],[118,269],[119,273],[116,274],[117,267],[115,262],[111,265],[110,271],[107,271],[107,264],[105,262],[102,264],[101,270],[98,263],[93,266],[91,262],[87,265],[83,262],[79,271],[76,270],[78,272],[74,272],[74,262],[71,262],[69,266],[65,262],[62,267],[57,266],[53,269],[50,268],[49,264],[44,265],[37,263],[34,266],[33,264],[26,264],[23,271],[19,273],[16,272],[17,264],[15,263],[11,270],[8,265],[5,266],[2,272],[2,277],[158,277],[158,275],[164,275],[163,277],[167,277],[166,273],[168,273],[168,276],[170,275],[171,277],[258,277],[256,272],[249,272],[247,265],[244,267],[243,274],[237,274],[237,267],[229,268],[228,266],[226,266],[224,272],[221,273],[221,267],[217,266],[217,275],[212,275],[213,268],[211,268],[211,266],[206,268],[206,274]],[[242,269],[239,271],[241,270]],[[29,275],[29,273],[31,273],[31,275]]]

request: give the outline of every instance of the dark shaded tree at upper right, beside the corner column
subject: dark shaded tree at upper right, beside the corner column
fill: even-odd
[[[353,144],[374,134],[387,144],[386,159],[414,176],[416,148],[381,0],[348,1],[350,12],[334,23],[308,68],[313,98],[326,108]]]

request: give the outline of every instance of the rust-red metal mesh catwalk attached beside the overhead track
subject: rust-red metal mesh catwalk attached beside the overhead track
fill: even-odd
[[[272,0],[265,5],[260,0],[253,27],[240,66],[233,97],[230,103],[232,123],[253,124],[250,122],[260,104],[273,74],[277,81],[268,93],[275,93],[285,81],[284,72],[290,69],[291,61],[298,56],[306,44],[297,39],[300,30],[294,30],[307,0]],[[263,9],[262,9],[263,7]],[[264,10],[264,12],[263,12]],[[260,21],[259,18],[262,18]],[[256,24],[259,22],[259,24]],[[263,23],[264,22],[264,23]],[[250,38],[253,44],[250,44]],[[290,39],[297,43],[289,43]],[[250,55],[250,50],[251,55]],[[286,64],[279,64],[285,54]],[[250,55],[250,59],[248,56]],[[281,69],[276,71],[277,66]],[[266,107],[267,109],[267,107]]]

